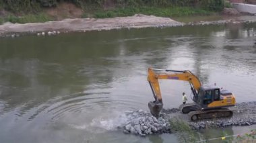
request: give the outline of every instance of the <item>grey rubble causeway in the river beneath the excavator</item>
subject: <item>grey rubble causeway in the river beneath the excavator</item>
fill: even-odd
[[[253,108],[256,101],[236,103],[229,109],[233,112],[232,117],[219,117],[195,122],[189,119],[180,109],[162,109],[158,119],[150,112],[137,110],[127,112],[127,122],[120,128],[125,134],[146,136],[150,134],[172,134],[186,129],[199,131],[206,128],[226,128],[229,126],[252,126],[256,124],[256,109]],[[182,126],[181,126],[182,125]]]

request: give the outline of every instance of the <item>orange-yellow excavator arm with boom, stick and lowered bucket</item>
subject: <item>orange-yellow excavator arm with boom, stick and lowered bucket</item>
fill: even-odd
[[[191,85],[193,95],[197,95],[199,88],[201,87],[201,82],[199,79],[189,70],[164,70],[148,68],[148,82],[150,83],[150,87],[155,99],[155,101],[148,103],[148,106],[150,107],[151,113],[156,117],[158,117],[163,105],[158,79],[188,81]]]

